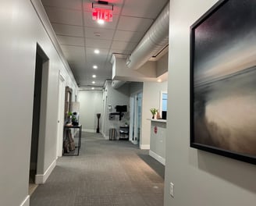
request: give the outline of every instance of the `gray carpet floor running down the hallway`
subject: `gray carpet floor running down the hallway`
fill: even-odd
[[[79,156],[62,157],[30,206],[162,206],[164,166],[125,140],[83,133]]]

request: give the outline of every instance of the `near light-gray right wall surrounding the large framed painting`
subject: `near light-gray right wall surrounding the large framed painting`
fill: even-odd
[[[256,166],[190,148],[190,25],[217,1],[170,3],[165,206],[253,206]],[[169,183],[174,183],[174,198]]]

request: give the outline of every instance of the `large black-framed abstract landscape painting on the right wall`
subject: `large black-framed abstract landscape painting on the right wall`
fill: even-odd
[[[190,147],[252,164],[255,8],[256,1],[222,0],[190,27]]]

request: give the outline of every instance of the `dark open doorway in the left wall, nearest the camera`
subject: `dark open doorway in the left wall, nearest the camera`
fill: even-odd
[[[42,102],[42,85],[44,81],[45,72],[44,63],[48,62],[48,57],[44,54],[41,47],[37,44],[36,64],[34,74],[34,104],[33,104],[33,119],[32,119],[32,133],[30,146],[30,180],[29,193],[32,194],[36,189],[36,175],[37,175],[37,158],[38,147],[40,142],[41,129],[41,102]],[[48,67],[48,66],[47,66]]]

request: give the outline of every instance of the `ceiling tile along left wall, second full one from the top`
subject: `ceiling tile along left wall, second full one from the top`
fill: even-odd
[[[83,27],[70,26],[66,24],[52,23],[55,34],[66,35],[71,37],[84,37]]]

